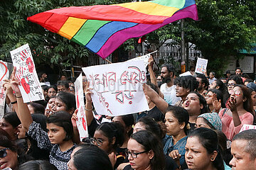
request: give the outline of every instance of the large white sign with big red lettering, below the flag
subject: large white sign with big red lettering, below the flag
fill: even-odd
[[[149,109],[142,84],[146,71],[142,60],[82,68],[92,87],[92,101],[100,115],[127,115]]]

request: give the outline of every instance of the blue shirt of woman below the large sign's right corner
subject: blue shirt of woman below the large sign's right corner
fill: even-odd
[[[181,140],[178,140],[178,142],[176,142],[176,145],[174,145],[174,139],[172,138],[172,136],[166,135],[164,137],[164,140],[166,140],[164,145],[164,154],[169,155],[171,151],[178,150],[178,153],[181,154],[180,164],[184,164],[186,152],[185,146],[187,138],[187,136],[181,138]]]

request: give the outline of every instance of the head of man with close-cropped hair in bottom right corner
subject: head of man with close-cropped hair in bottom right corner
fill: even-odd
[[[233,138],[230,165],[234,170],[256,169],[256,130],[245,130]]]

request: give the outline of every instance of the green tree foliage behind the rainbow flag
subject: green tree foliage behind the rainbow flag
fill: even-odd
[[[0,1],[0,58],[10,57],[9,51],[29,43],[36,64],[69,65],[71,58],[85,60],[90,52],[60,35],[26,21],[28,16],[65,6],[118,4],[131,0],[2,0]],[[209,60],[209,69],[225,68],[229,56],[240,57],[238,50],[250,49],[256,35],[255,0],[197,0],[198,21],[186,19],[186,41],[192,42]],[[179,21],[147,35],[149,43],[161,45],[168,39],[179,43]],[[132,47],[132,40],[123,47]],[[86,61],[85,61],[86,62]]]

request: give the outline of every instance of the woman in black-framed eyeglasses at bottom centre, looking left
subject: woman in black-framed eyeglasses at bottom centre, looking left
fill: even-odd
[[[163,170],[163,147],[158,137],[147,130],[131,135],[127,145],[129,166],[124,170]]]

